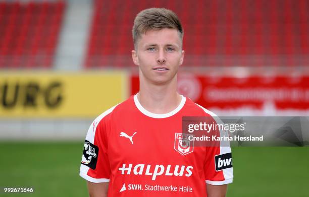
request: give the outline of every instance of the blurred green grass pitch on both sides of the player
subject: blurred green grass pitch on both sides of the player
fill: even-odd
[[[83,142],[0,142],[0,187],[33,187],[31,194],[88,196],[79,177]],[[232,196],[308,196],[309,147],[233,147]]]

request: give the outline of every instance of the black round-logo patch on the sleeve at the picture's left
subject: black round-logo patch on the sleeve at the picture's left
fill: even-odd
[[[85,140],[81,164],[84,164],[94,170],[96,167],[97,157],[98,147]]]

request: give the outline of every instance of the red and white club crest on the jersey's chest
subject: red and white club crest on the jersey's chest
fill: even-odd
[[[189,134],[175,133],[174,149],[181,155],[193,152],[193,141],[189,141]]]

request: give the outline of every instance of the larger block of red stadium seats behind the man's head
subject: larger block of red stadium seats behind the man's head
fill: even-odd
[[[186,67],[309,63],[306,0],[95,0],[94,4],[86,68],[134,66],[133,20],[151,7],[171,9],[181,19]]]

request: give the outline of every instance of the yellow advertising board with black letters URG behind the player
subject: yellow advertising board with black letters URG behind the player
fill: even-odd
[[[128,95],[125,72],[0,72],[0,117],[96,117]]]

